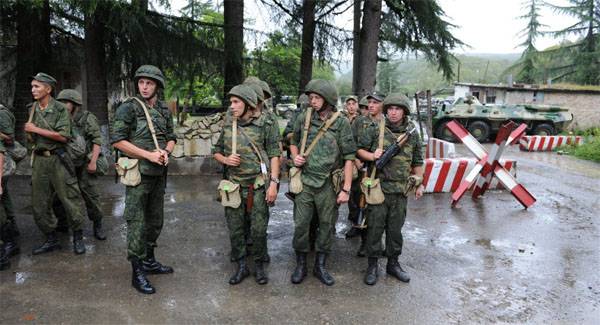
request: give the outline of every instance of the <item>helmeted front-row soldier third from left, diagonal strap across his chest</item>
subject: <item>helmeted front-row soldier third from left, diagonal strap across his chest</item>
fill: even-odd
[[[337,90],[332,82],[314,80],[305,92],[309,96],[311,107],[315,110],[309,116],[309,127],[304,131],[304,122],[308,111],[296,119],[290,151],[294,165],[302,168],[302,191],[294,199],[294,240],[296,268],[292,274],[292,283],[301,283],[306,277],[306,256],[310,250],[309,225],[313,211],[317,211],[319,226],[315,244],[316,260],[313,274],[324,284],[333,285],[335,280],[325,269],[327,255],[331,252],[338,205],[348,202],[352,182],[352,161],[356,154],[356,144],[348,119],[335,112]],[[336,118],[338,117],[339,118]],[[331,120],[330,120],[331,119]],[[329,128],[325,129],[326,125]],[[322,130],[319,132],[319,130]],[[308,148],[312,154],[306,155],[302,144],[307,135]],[[317,134],[320,134],[318,136]],[[315,138],[317,142],[313,144]],[[300,148],[299,148],[300,147]],[[307,150],[308,151],[308,150]],[[343,184],[336,193],[332,173],[343,168]],[[336,197],[337,196],[337,197]]]

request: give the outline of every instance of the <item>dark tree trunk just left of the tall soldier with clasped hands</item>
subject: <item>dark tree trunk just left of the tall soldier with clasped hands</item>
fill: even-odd
[[[101,125],[108,123],[108,92],[106,86],[106,53],[104,22],[107,8],[99,2],[93,13],[85,15],[85,80],[87,109],[98,117]]]

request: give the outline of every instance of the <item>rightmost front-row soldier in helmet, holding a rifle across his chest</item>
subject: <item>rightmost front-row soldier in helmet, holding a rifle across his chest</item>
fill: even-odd
[[[358,156],[374,162],[381,157],[383,150],[378,148],[379,121],[381,114],[376,114],[380,105],[376,105],[377,96],[369,96],[369,110],[374,114],[373,123],[360,134],[358,141]],[[383,101],[385,119],[383,147],[388,148],[396,139],[407,130],[414,128],[413,122],[408,120],[410,114],[410,101],[402,94],[390,94]],[[402,226],[406,219],[406,192],[405,186],[409,176],[423,176],[423,153],[418,135],[410,136],[402,147],[400,153],[381,170],[377,170],[384,202],[367,207],[367,256],[368,268],[364,282],[374,285],[377,282],[377,258],[382,255],[381,238],[385,230],[386,244],[385,256],[387,257],[386,271],[402,282],[409,282],[410,277],[398,262],[402,253]],[[423,195],[423,185],[415,190],[415,198]]]

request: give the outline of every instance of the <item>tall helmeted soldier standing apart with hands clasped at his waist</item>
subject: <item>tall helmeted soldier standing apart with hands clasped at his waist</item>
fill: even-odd
[[[165,77],[155,66],[142,65],[134,75],[137,99],[130,98],[117,107],[113,122],[112,145],[132,159],[139,159],[141,182],[127,186],[125,211],[127,221],[127,259],[131,261],[132,286],[141,293],[156,292],[147,274],[169,274],[173,268],[159,263],[154,248],[164,221],[164,195],[169,155],[175,147],[171,112],[158,92],[165,88]],[[154,143],[145,108],[156,131]]]

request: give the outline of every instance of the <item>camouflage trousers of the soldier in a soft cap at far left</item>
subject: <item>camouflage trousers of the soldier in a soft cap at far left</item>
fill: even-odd
[[[51,212],[55,194],[65,207],[71,229],[81,230],[85,204],[77,177],[69,175],[56,155],[36,155],[31,175],[31,201],[35,223],[45,234],[56,229],[57,219]]]

